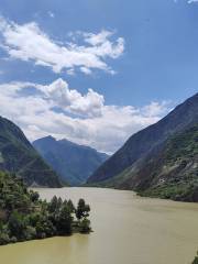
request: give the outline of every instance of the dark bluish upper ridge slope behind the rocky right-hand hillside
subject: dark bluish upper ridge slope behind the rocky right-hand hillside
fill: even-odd
[[[110,179],[161,147],[168,136],[198,122],[198,94],[177,106],[168,116],[132,135],[127,143],[88,179],[88,184]]]

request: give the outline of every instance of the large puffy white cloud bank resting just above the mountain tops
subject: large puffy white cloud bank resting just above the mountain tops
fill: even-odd
[[[92,89],[81,95],[63,79],[50,85],[1,84],[0,103],[0,114],[19,124],[30,140],[51,134],[107,153],[113,153],[131,134],[169,110],[165,101],[142,108],[109,106],[102,95]]]

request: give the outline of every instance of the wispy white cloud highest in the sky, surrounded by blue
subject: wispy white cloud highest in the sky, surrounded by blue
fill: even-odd
[[[1,47],[10,57],[32,61],[35,65],[50,67],[55,73],[74,73],[76,68],[84,74],[101,69],[113,74],[106,58],[116,59],[123,54],[124,40],[112,40],[113,33],[101,31],[98,34],[80,32],[82,45],[61,43],[51,38],[35,22],[16,24],[0,18]]]

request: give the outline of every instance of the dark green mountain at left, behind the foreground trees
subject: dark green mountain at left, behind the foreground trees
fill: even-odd
[[[23,132],[0,117],[0,170],[21,176],[31,185],[61,187],[58,176],[43,161]]]

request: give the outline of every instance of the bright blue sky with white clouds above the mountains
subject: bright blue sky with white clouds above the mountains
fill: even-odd
[[[197,92],[196,0],[0,0],[0,116],[116,152]]]

